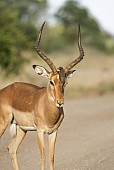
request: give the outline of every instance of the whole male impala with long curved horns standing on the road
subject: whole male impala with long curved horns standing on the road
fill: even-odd
[[[56,68],[53,62],[39,49],[43,23],[35,50],[38,55],[49,65],[51,72],[39,65],[33,65],[38,75],[48,78],[47,87],[38,87],[27,83],[13,83],[0,90],[0,137],[11,123],[10,131],[13,139],[8,146],[13,169],[18,170],[16,152],[24,139],[26,132],[36,130],[41,154],[41,170],[45,165],[44,134],[49,137],[49,162],[50,170],[54,170],[54,149],[57,130],[64,118],[64,88],[67,78],[75,70],[71,70],[84,56],[81,46],[80,27],[78,30],[78,48],[80,55],[65,69]]]

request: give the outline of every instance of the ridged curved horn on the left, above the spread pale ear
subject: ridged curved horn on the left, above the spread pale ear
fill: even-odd
[[[38,38],[37,41],[35,43],[35,50],[37,52],[37,54],[49,65],[49,67],[51,68],[51,70],[56,73],[57,69],[55,67],[55,65],[53,64],[53,62],[40,50],[39,48],[39,44],[40,44],[40,40],[41,40],[41,36],[42,36],[42,31],[43,31],[43,27],[45,25],[46,22],[44,22],[40,28],[39,34],[38,34]]]

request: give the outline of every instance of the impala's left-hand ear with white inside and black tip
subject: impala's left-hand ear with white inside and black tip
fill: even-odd
[[[36,71],[36,73],[40,76],[44,76],[46,78],[49,78],[49,71],[46,70],[44,67],[39,66],[39,65],[33,65],[34,70]]]

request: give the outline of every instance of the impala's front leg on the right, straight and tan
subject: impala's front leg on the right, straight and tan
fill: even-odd
[[[50,170],[54,170],[54,152],[57,138],[57,131],[49,135],[49,163]]]

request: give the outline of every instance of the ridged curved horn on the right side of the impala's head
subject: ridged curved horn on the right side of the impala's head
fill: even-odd
[[[80,55],[78,58],[76,58],[75,60],[73,60],[66,68],[65,68],[65,73],[67,73],[69,70],[71,70],[76,64],[78,64],[84,56],[84,50],[83,47],[81,45],[81,31],[80,31],[80,25],[78,25],[78,49],[80,52]]]

